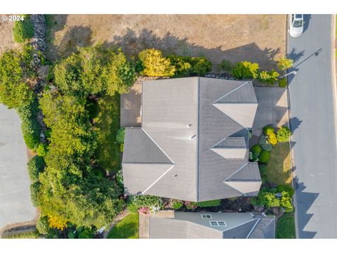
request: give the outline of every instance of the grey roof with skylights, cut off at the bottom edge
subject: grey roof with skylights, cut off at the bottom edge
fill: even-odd
[[[203,219],[205,214],[211,219]],[[225,226],[211,226],[211,221],[223,221]],[[151,215],[149,238],[275,238],[275,216],[213,212],[176,212],[173,218]]]

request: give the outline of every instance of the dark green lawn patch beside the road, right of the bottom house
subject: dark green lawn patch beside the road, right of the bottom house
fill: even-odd
[[[276,226],[276,238],[296,238],[295,217],[293,213],[285,213],[279,218]]]

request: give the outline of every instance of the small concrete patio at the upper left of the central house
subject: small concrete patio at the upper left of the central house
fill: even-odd
[[[121,126],[140,126],[142,117],[140,107],[142,105],[142,84],[133,84],[129,93],[121,95]]]

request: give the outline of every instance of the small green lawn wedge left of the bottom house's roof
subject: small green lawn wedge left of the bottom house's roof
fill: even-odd
[[[110,239],[138,239],[139,220],[138,213],[128,214],[119,221],[107,235]]]

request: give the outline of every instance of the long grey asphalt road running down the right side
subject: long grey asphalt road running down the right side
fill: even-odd
[[[305,15],[289,37],[289,79],[299,238],[337,238],[337,153],[331,73],[331,15]],[[291,70],[290,70],[291,71]]]

